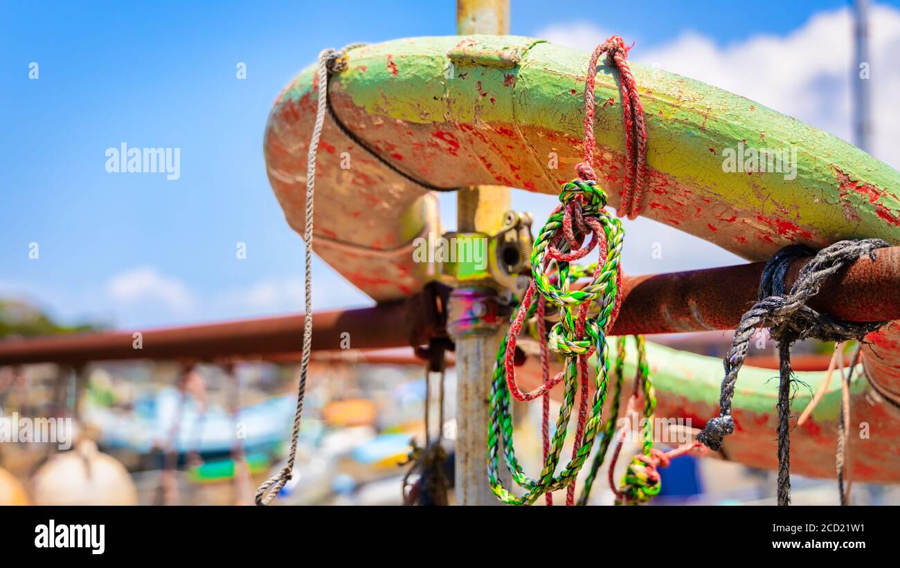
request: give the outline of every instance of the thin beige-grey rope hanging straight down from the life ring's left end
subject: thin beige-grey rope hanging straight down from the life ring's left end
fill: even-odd
[[[282,471],[267,479],[257,489],[255,501],[257,505],[268,505],[275,496],[284,489],[284,484],[291,480],[293,465],[297,458],[297,439],[300,437],[300,419],[303,413],[303,397],[306,394],[306,377],[310,369],[310,351],[312,345],[312,211],[313,197],[316,189],[316,155],[329,103],[329,76],[347,68],[345,52],[360,44],[353,44],[336,51],[323,49],[319,54],[319,68],[316,80],[319,83],[316,106],[316,122],[312,129],[310,149],[306,159],[306,216],[303,223],[304,264],[304,315],[303,315],[303,355],[300,363],[300,385],[297,388],[297,408],[293,415],[293,432],[291,449],[288,453],[287,465]]]

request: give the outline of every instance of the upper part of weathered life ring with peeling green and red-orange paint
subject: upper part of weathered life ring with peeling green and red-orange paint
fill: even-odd
[[[588,58],[518,36],[388,41],[348,52],[347,70],[331,79],[330,102],[359,142],[414,180],[555,195],[581,161]],[[879,237],[900,244],[900,173],[887,164],[733,93],[637,63],[632,70],[646,118],[645,217],[752,261],[792,243],[821,248]],[[269,179],[298,232],[313,75],[309,67],[284,89],[266,125]],[[615,71],[601,66],[595,160],[613,207],[625,146],[617,84]],[[796,151],[796,177],[786,164],[782,172],[724,171],[729,155],[736,162],[743,152],[746,161],[751,148],[787,150],[788,162]],[[438,228],[425,188],[330,119],[316,185],[315,249],[326,262],[377,300],[421,288],[428,268],[412,262],[411,242]]]

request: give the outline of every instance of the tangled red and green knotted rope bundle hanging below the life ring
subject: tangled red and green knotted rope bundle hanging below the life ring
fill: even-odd
[[[532,277],[513,315],[509,333],[500,344],[491,384],[491,425],[488,431],[488,476],[491,489],[500,501],[509,504],[530,504],[545,493],[572,487],[593,446],[599,430],[600,413],[607,394],[608,360],[606,354],[606,330],[617,315],[618,289],[621,283],[619,255],[622,249],[622,227],[617,218],[604,209],[605,193],[596,183],[581,179],[563,185],[561,205],[547,220],[537,236],[531,255]],[[590,243],[583,244],[590,235]],[[590,282],[580,290],[572,290],[570,262],[583,258],[598,244],[602,244],[600,260],[594,267]],[[580,272],[575,271],[577,274]],[[542,299],[557,306],[560,322],[554,324],[548,347],[566,356],[565,370],[535,390],[525,393],[516,380],[515,351],[518,333],[526,317],[535,314],[539,302],[533,302],[535,292]],[[599,315],[588,316],[591,302],[599,304]],[[577,313],[573,314],[573,311]],[[590,409],[588,358],[597,353],[594,376],[594,395]],[[572,449],[572,459],[559,475],[554,475],[563,450],[566,430],[572,415],[576,391],[581,378],[581,404],[579,421]],[[553,386],[563,382],[563,406],[556,422],[554,436],[549,441],[545,466],[537,479],[523,472],[516,458],[512,439],[512,420],[509,414],[510,394],[519,401],[534,400],[544,396]],[[500,482],[500,440],[502,439],[506,466],[513,481],[526,490],[517,497]],[[569,491],[567,504],[574,503]]]

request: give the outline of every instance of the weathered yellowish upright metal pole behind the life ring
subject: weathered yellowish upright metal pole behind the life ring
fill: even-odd
[[[456,32],[506,35],[509,0],[457,0]],[[456,195],[457,230],[496,233],[509,209],[509,188],[480,186]],[[493,361],[502,330],[479,316],[496,296],[493,288],[456,288],[450,297],[448,327],[456,342],[456,504],[489,505],[487,474],[488,396]]]

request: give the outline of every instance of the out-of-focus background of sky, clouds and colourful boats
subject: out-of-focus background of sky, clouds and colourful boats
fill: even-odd
[[[846,1],[588,9],[513,0],[511,16],[514,34],[583,50],[616,33],[635,42],[630,58],[747,96],[900,166],[900,2],[869,4],[868,120],[854,105]],[[275,96],[322,48],[454,33],[454,2],[0,3],[0,337],[302,311],[302,240],[284,222],[261,151]],[[123,141],[180,148],[178,179],[108,174],[104,152]],[[455,196],[440,200],[452,229]],[[513,192],[513,208],[533,212],[536,223],[553,205]],[[625,223],[628,273],[742,262],[669,226]],[[318,259],[313,273],[317,310],[371,305]],[[649,339],[721,356],[730,335]],[[5,368],[0,410],[76,417],[80,437],[96,445],[77,450],[79,459],[101,467],[114,458],[121,469],[109,462],[110,486],[121,484],[125,501],[132,483],[141,504],[249,503],[257,484],[284,466],[296,363]],[[454,389],[451,366],[451,459]],[[425,371],[411,352],[317,355],[299,475],[275,502],[401,503],[400,464],[410,438],[422,443],[425,394]],[[540,411],[517,411],[520,438],[530,440],[520,453],[536,458]],[[40,501],[33,478],[57,451],[0,443],[0,466]],[[679,464],[666,470],[669,489],[656,502],[774,502],[770,473],[714,460]],[[524,466],[535,471],[538,463]],[[612,496],[598,490],[593,499]],[[795,481],[796,503],[835,499],[833,480]],[[900,503],[900,493],[860,486],[854,502]]]

